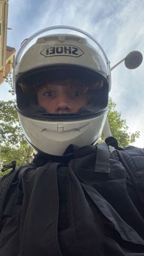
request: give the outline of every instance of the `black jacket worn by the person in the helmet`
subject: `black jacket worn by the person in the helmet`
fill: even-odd
[[[144,150],[132,153],[144,159]],[[0,255],[144,255],[144,192],[118,153],[108,156],[103,147],[76,148],[68,163],[45,157],[2,178],[1,194],[12,182],[0,205]],[[144,164],[139,174],[144,191]]]

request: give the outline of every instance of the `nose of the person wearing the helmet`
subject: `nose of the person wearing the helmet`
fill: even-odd
[[[56,112],[57,113],[67,113],[71,112],[70,102],[67,96],[62,95],[57,99]]]

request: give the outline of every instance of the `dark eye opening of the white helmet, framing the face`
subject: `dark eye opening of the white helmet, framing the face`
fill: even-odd
[[[24,73],[16,84],[21,114],[40,120],[76,120],[106,111],[104,76],[79,67],[51,67]]]

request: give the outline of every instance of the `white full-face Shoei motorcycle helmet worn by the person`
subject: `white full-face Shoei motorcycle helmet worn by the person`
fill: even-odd
[[[51,29],[71,29],[75,34],[49,34]],[[42,32],[40,37],[23,54],[24,49]],[[76,32],[81,32],[82,37]],[[92,46],[85,38],[95,42]],[[37,104],[35,87],[52,79],[76,78],[101,86],[95,90],[87,106],[76,113],[48,113]],[[38,31],[25,40],[15,59],[13,80],[16,92],[16,108],[27,142],[38,152],[62,156],[68,145],[79,147],[96,144],[107,117],[110,90],[110,67],[98,42],[79,29],[59,26]],[[23,90],[26,85],[31,93]]]

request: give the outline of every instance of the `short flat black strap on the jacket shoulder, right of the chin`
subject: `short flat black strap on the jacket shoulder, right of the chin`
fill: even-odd
[[[95,172],[110,172],[110,152],[106,143],[97,145]]]

